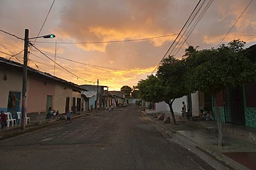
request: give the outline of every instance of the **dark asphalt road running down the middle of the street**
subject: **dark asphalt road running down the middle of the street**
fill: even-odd
[[[136,105],[0,141],[0,169],[213,169]]]

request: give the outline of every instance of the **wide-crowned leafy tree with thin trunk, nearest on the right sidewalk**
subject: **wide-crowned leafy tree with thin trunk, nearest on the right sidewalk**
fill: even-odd
[[[197,90],[212,94],[213,105],[216,106],[216,94],[226,87],[236,87],[256,76],[255,63],[250,61],[244,42],[234,40],[217,49],[201,50],[185,59],[186,83],[192,92]],[[221,116],[216,107],[217,125],[219,129],[219,146],[222,146],[223,134]]]

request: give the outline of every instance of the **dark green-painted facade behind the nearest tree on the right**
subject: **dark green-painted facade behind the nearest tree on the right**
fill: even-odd
[[[256,83],[250,82],[236,88],[227,88],[217,94],[216,106],[212,103],[210,96],[210,109],[216,113],[217,108],[221,114],[221,121],[233,125],[245,125],[246,127],[256,127]],[[205,95],[200,92],[199,108],[205,107]],[[205,97],[206,96],[206,97]],[[208,105],[208,102],[206,102]]]

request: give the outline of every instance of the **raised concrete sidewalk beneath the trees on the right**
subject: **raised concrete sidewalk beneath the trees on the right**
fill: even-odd
[[[223,123],[223,146],[219,147],[216,121],[192,121],[175,115],[177,125],[172,118],[171,123],[164,124],[150,116],[152,112],[146,110],[144,115],[162,134],[169,134],[215,169],[256,169],[255,128]],[[170,116],[170,112],[165,115]]]

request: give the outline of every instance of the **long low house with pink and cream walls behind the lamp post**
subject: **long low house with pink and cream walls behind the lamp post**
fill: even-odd
[[[21,111],[23,65],[0,57],[0,76],[0,109],[15,117]],[[27,114],[31,120],[42,120],[49,107],[60,113],[82,111],[85,105],[82,90],[79,85],[28,67]]]

